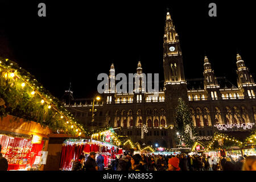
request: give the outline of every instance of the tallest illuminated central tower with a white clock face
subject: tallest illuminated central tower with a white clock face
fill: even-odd
[[[164,95],[168,113],[167,122],[173,124],[177,100],[182,98],[188,103],[188,90],[184,76],[179,36],[169,12],[167,12],[164,27],[163,67]]]

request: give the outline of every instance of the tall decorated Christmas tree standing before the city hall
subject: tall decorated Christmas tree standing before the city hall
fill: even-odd
[[[193,136],[196,134],[195,127],[193,126],[193,119],[189,108],[182,98],[179,98],[175,109],[175,128],[179,133],[176,136],[176,143],[179,145],[182,142],[185,146],[192,147],[194,142]]]

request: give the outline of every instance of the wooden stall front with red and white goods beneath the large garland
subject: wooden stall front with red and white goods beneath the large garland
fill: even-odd
[[[20,118],[11,122],[14,119],[11,115],[0,119],[1,153],[9,163],[8,170],[42,170],[47,158],[48,127]]]

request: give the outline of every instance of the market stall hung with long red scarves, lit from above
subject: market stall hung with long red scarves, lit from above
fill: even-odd
[[[63,171],[71,171],[73,162],[79,158],[80,155],[85,156],[85,161],[89,153],[94,151],[98,155],[104,157],[104,167],[112,166],[113,160],[123,154],[122,148],[117,146],[119,141],[111,130],[96,133],[91,138],[84,139],[66,139],[61,148],[60,169]]]

